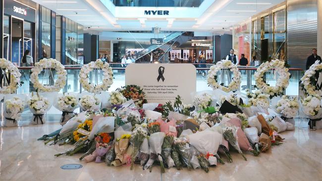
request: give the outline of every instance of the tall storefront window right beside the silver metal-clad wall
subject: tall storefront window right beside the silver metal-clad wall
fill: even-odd
[[[274,12],[274,58],[285,60],[285,35],[286,35],[285,9]]]

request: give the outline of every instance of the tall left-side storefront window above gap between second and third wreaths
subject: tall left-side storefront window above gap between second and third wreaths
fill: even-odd
[[[66,18],[65,38],[66,65],[77,64],[77,23]]]

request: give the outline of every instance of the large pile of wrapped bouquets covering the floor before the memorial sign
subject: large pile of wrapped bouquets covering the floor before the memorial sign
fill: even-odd
[[[264,95],[249,93],[242,100],[235,92],[215,99],[209,92],[196,92],[192,104],[183,104],[180,96],[159,104],[146,103],[139,86],[126,86],[110,93],[110,109],[87,109],[41,139],[70,144],[55,156],[77,154],[82,162],[129,169],[137,164],[150,171],[159,165],[161,173],[171,167],[209,172],[209,167],[233,162],[231,152],[245,161],[251,154],[260,156],[282,144],[280,132],[294,129],[281,119],[294,116],[294,100],[285,96],[269,108]],[[95,95],[86,95],[91,99]]]

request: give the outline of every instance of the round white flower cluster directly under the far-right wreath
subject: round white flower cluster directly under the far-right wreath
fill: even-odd
[[[302,100],[302,106],[304,114],[310,117],[316,116],[321,110],[321,98],[309,95]]]

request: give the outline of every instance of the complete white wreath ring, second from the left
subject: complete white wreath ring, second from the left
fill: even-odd
[[[57,74],[57,80],[53,86],[45,86],[39,82],[38,75],[43,69],[55,69]],[[35,63],[35,67],[31,69],[30,81],[34,84],[34,88],[37,91],[44,92],[58,92],[64,88],[67,79],[67,72],[65,67],[56,59],[44,58]]]

